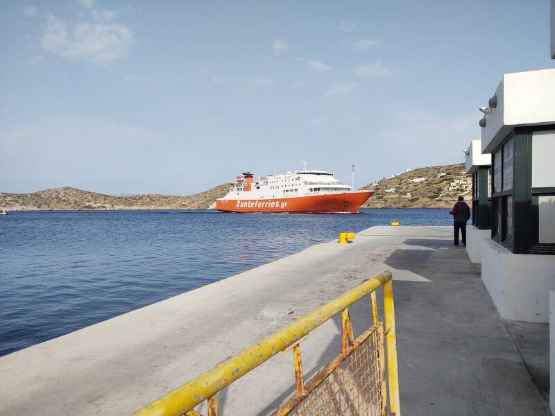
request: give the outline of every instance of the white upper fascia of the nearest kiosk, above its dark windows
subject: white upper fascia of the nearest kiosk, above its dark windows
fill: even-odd
[[[497,107],[481,128],[482,153],[491,153],[515,126],[555,123],[555,69],[506,73],[495,95]]]

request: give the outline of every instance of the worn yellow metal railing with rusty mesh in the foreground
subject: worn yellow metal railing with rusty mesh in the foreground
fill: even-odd
[[[273,415],[400,415],[393,281],[383,272],[343,293],[309,315],[245,349],[198,378],[142,408],[134,416],[200,416],[194,407],[207,400],[208,416],[218,415],[216,393],[293,345],[296,394]],[[383,286],[384,324],[378,322],[375,290]],[[353,336],[348,307],[370,294],[372,326]],[[341,312],[341,354],[307,383],[302,376],[300,341]],[[385,338],[384,338],[385,336]],[[384,352],[384,343],[386,349]],[[388,382],[385,379],[385,356]],[[388,385],[388,388],[387,388]],[[389,395],[387,397],[387,391]]]

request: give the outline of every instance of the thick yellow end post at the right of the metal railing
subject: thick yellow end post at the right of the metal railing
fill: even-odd
[[[395,342],[395,309],[393,307],[393,279],[384,283],[384,323],[387,349],[387,373],[389,379],[389,406],[391,415],[400,416],[399,372],[397,368],[397,345]]]

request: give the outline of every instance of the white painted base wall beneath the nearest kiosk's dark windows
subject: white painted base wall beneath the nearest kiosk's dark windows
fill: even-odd
[[[555,256],[514,254],[486,239],[481,279],[503,319],[549,322],[549,291],[555,291]]]

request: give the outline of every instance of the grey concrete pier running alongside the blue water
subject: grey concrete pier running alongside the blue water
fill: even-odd
[[[395,280],[404,414],[549,414],[452,227],[372,227],[4,356],[0,414],[133,412],[383,270]],[[351,315],[357,335],[369,301]],[[301,344],[305,378],[340,351],[340,318]],[[275,410],[293,392],[291,354],[223,390],[221,414]]]

